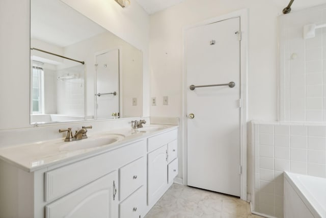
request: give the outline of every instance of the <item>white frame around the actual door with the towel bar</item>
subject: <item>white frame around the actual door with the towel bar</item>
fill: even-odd
[[[241,9],[229,14],[210,18],[193,25],[183,27],[183,51],[182,51],[182,76],[183,76],[183,102],[182,102],[182,136],[184,138],[182,144],[183,150],[183,184],[187,185],[187,73],[185,58],[185,35],[186,31],[191,28],[209,25],[214,22],[223,21],[230,18],[240,17],[240,198],[247,201],[247,71],[248,71],[248,14],[249,9]],[[240,169],[239,169],[240,170]]]

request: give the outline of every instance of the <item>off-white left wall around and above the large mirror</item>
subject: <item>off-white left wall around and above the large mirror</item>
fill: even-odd
[[[135,2],[67,0],[78,11],[130,42],[144,54],[144,99],[149,99],[149,17]],[[0,130],[30,127],[30,2],[0,1]],[[149,115],[144,101],[143,115]]]

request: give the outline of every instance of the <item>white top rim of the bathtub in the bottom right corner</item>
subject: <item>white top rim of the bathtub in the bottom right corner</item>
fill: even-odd
[[[324,210],[324,208],[315,199],[315,197],[311,195],[310,191],[306,189],[306,187],[301,183],[301,181],[296,178],[296,176],[308,176],[308,175],[284,172],[284,178],[289,182],[289,184],[295,190],[297,195],[300,197],[300,199],[304,202],[304,204],[313,214],[313,216],[315,218],[326,218],[325,216],[326,211]],[[297,181],[294,182],[293,180],[297,180]]]

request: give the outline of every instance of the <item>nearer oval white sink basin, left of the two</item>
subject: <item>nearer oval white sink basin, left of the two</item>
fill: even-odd
[[[112,144],[124,138],[125,135],[122,134],[103,134],[97,136],[94,135],[94,136],[90,136],[87,139],[65,142],[62,146],[60,146],[59,150],[75,151],[81,149],[90,149],[90,148],[105,146],[107,144]]]

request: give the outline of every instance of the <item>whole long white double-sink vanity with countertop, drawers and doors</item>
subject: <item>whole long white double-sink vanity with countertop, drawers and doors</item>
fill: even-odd
[[[106,135],[124,137],[79,149]],[[69,145],[74,146],[68,149]],[[177,126],[0,150],[0,217],[143,217],[178,174]]]

